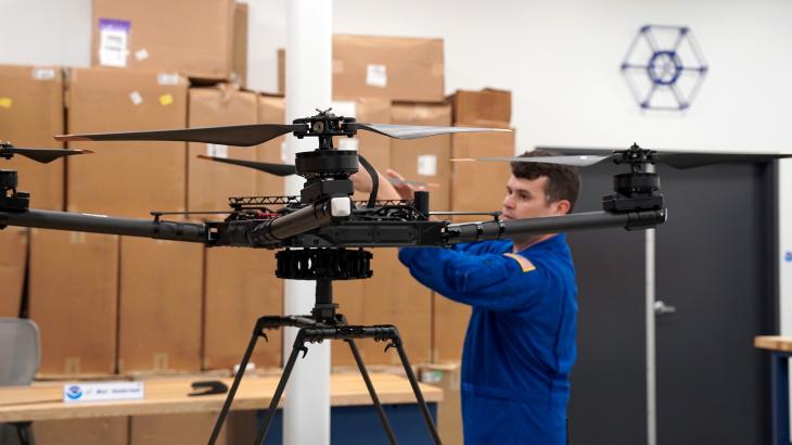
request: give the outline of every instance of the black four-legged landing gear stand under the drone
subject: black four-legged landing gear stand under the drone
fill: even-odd
[[[281,254],[284,254],[286,252],[289,251],[281,252]],[[350,251],[337,250],[336,252],[344,252],[346,254],[349,254]],[[368,252],[360,252],[370,255],[370,253]],[[279,260],[281,258],[279,258]],[[396,327],[392,325],[350,326],[346,322],[346,317],[341,314],[336,314],[335,309],[337,308],[337,304],[332,302],[332,280],[329,278],[321,278],[317,279],[316,304],[314,306],[314,309],[311,310],[311,315],[288,317],[265,316],[256,321],[256,326],[253,329],[253,334],[251,335],[251,341],[247,343],[247,349],[242,357],[239,370],[234,376],[233,384],[229,390],[228,396],[226,397],[226,403],[222,405],[222,410],[220,411],[220,415],[217,418],[217,422],[215,423],[215,428],[212,432],[212,437],[209,438],[209,445],[214,445],[217,436],[220,433],[220,429],[222,428],[226,416],[231,408],[231,403],[233,402],[233,397],[237,394],[237,390],[239,389],[239,384],[242,380],[245,368],[247,367],[247,363],[251,359],[251,355],[253,355],[253,349],[256,346],[258,338],[264,336],[266,340],[267,330],[278,329],[284,326],[299,328],[299,331],[297,331],[297,336],[294,340],[294,345],[292,346],[292,353],[289,356],[289,360],[286,361],[286,366],[283,369],[283,373],[278,383],[278,387],[276,389],[272,400],[269,405],[269,409],[267,410],[267,417],[264,421],[264,424],[258,430],[255,442],[256,444],[264,444],[267,432],[269,431],[269,427],[274,417],[276,409],[278,408],[278,403],[283,395],[283,390],[286,387],[286,383],[289,382],[289,378],[292,373],[292,370],[294,369],[294,365],[297,361],[297,357],[301,353],[303,353],[303,357],[305,357],[305,355],[308,353],[306,343],[318,343],[322,342],[323,340],[343,340],[349,345],[349,349],[352,351],[352,354],[355,357],[355,363],[357,364],[358,369],[360,370],[360,374],[366,382],[366,387],[369,390],[369,394],[371,395],[371,399],[374,404],[374,408],[376,409],[380,421],[382,422],[382,427],[385,430],[385,434],[387,434],[388,442],[391,444],[397,444],[396,435],[394,434],[393,428],[391,427],[391,422],[387,420],[387,416],[385,415],[385,410],[380,403],[380,398],[374,391],[374,385],[372,384],[369,373],[366,370],[366,365],[363,365],[363,360],[360,357],[360,352],[355,344],[355,339],[373,339],[378,342],[387,342],[385,351],[389,349],[391,347],[396,348],[396,352],[399,355],[399,359],[401,360],[401,366],[405,368],[405,372],[407,373],[407,379],[410,381],[410,386],[412,386],[412,392],[416,394],[416,399],[418,400],[418,405],[421,409],[423,420],[426,423],[426,428],[432,434],[434,443],[440,443],[437,429],[434,425],[434,422],[429,411],[429,407],[426,406],[426,402],[424,400],[421,389],[418,385],[416,374],[414,372],[412,372],[412,367],[410,366],[410,363],[407,358],[407,353],[405,352],[404,345],[401,343],[401,338],[399,335],[398,329],[396,329]]]

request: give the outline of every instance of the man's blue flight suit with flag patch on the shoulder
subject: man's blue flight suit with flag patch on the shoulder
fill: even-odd
[[[566,442],[575,361],[575,269],[564,234],[516,254],[511,241],[401,249],[418,281],[471,305],[462,353],[465,444]]]

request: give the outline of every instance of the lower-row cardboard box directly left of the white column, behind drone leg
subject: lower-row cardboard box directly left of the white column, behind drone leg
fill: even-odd
[[[203,369],[239,364],[256,320],[283,314],[283,280],[274,276],[274,251],[215,247],[206,251]],[[258,339],[256,368],[281,366],[282,330]]]

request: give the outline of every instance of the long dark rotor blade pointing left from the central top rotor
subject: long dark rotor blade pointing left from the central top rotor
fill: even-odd
[[[251,147],[281,135],[306,130],[305,124],[254,124],[230,127],[186,128],[180,130],[126,131],[91,135],[61,135],[58,141],[181,141]]]

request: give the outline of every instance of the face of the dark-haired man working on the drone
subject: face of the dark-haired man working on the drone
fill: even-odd
[[[512,175],[506,183],[503,199],[503,219],[536,218],[539,216],[563,215],[570,211],[570,202],[550,202],[545,194],[548,178],[515,178]]]

